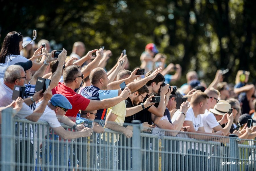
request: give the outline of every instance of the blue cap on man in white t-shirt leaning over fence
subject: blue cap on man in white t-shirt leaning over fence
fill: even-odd
[[[53,106],[59,106],[65,109],[72,109],[72,105],[69,100],[62,94],[54,94],[50,100]]]

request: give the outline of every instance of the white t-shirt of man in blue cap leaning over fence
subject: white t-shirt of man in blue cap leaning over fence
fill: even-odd
[[[41,102],[36,104],[36,108],[38,108],[40,106]],[[57,127],[61,126],[61,124],[59,123],[59,121],[57,119],[57,116],[56,116],[54,110],[51,110],[51,108],[49,108],[48,105],[46,105],[44,113],[39,118],[39,121],[48,122],[48,124],[51,128],[57,128]],[[39,128],[39,131],[37,131],[37,130],[35,131],[35,138],[34,138],[35,139],[35,141],[34,141],[34,148],[35,148],[34,154],[35,154],[35,156],[37,156],[37,154],[36,154],[36,152],[37,152],[37,142],[38,142],[37,138],[39,138],[39,143],[41,144],[42,139],[44,139],[44,137],[47,134],[47,128],[48,127],[44,126],[44,125],[38,125],[38,128]],[[44,134],[43,134],[43,132],[44,132]],[[39,144],[39,146],[40,146],[40,144]]]

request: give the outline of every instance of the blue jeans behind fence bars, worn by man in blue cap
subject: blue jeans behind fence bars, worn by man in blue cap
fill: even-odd
[[[57,151],[57,150],[59,150],[59,151]],[[59,153],[58,156],[57,156],[57,153]],[[53,156],[53,152],[51,152],[51,156],[54,159],[54,163],[53,163],[53,159],[52,159],[49,164],[51,165],[51,167],[59,166],[59,170],[64,170],[64,169],[67,170],[69,154],[70,154],[70,143],[69,142],[67,144],[64,142],[64,145],[61,142],[59,142],[59,146],[57,145],[57,143],[54,143],[54,156]],[[58,169],[54,168],[54,169],[50,169],[50,170],[58,170]]]

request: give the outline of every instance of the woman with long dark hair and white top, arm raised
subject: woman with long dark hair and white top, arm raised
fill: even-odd
[[[23,48],[23,35],[16,31],[12,31],[5,36],[3,46],[0,52],[0,78],[4,77],[5,70],[8,66],[18,62],[27,62],[28,59],[20,55],[20,51]],[[34,55],[41,53],[41,48],[38,48]],[[33,63],[32,71],[37,71],[44,63],[47,58],[47,49],[42,49],[42,60],[40,63]]]

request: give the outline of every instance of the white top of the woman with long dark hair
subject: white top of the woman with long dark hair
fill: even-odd
[[[9,59],[10,57],[10,59]],[[22,57],[21,55],[10,55],[6,57],[5,63],[0,63],[0,78],[3,78],[5,76],[5,70],[10,65],[14,65],[18,62],[27,62],[28,59],[25,57]]]

